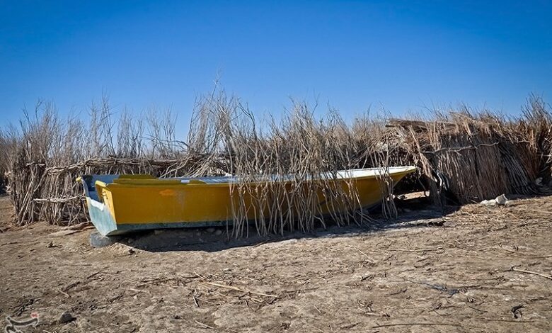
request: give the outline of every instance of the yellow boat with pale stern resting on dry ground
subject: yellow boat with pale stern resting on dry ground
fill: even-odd
[[[301,214],[314,208],[317,215],[345,213],[371,207],[381,201],[383,169],[340,171],[340,177],[311,179],[295,183],[257,181],[239,183],[231,178],[156,179],[145,175],[82,176],[88,212],[101,235],[171,227],[209,227],[231,224],[235,209],[242,203],[242,216],[258,220],[270,216],[270,205]],[[393,185],[415,171],[413,166],[387,169]],[[347,174],[348,173],[348,174]],[[241,187],[240,187],[241,186]],[[344,202],[330,191],[355,193],[357,200]],[[301,193],[295,202],[283,200],[282,193]]]

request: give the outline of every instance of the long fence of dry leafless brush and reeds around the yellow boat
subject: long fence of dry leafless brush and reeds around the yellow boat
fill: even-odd
[[[410,181],[430,191],[435,203],[464,204],[502,193],[534,193],[551,181],[552,115],[531,96],[519,118],[468,108],[435,112],[423,120],[387,120],[364,115],[351,123],[338,111],[318,115],[316,106],[292,103],[281,116],[258,120],[238,98],[215,91],[201,98],[188,137],[177,140],[173,114],[151,111],[115,117],[107,98],[88,118],[62,119],[54,106],[39,103],[25,113],[21,128],[0,135],[2,171],[18,225],[38,220],[73,224],[86,220],[81,174],[153,174],[160,177],[231,174],[234,235],[243,235],[247,206],[268,211],[255,218],[261,234],[313,230],[324,225],[312,196],[324,188],[336,203],[355,206],[357,194],[333,188],[336,171],[415,164]],[[330,179],[308,182],[321,173]],[[294,175],[291,191],[277,179]],[[259,182],[252,188],[244,186]],[[385,177],[383,210],[396,215]],[[353,186],[349,186],[353,188]],[[270,196],[270,198],[269,198]],[[268,202],[275,205],[267,205]],[[294,204],[292,204],[294,203]],[[289,207],[300,207],[297,211]],[[360,224],[364,211],[333,214],[332,222]]]

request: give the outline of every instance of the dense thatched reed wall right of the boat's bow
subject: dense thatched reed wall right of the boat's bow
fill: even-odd
[[[391,125],[408,140],[435,203],[444,192],[465,204],[536,191],[538,152],[524,135],[507,136],[498,125],[473,118],[452,123],[394,120]]]

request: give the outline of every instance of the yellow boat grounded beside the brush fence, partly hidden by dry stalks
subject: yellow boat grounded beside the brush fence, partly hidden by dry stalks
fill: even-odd
[[[312,177],[306,183],[326,179],[345,191],[355,186],[358,203],[353,208],[369,208],[381,201],[381,175],[389,174],[394,185],[415,170],[415,166],[352,169]],[[293,178],[286,176],[270,181],[280,182],[287,188],[292,186]],[[86,175],[77,180],[84,185],[91,221],[104,236],[145,229],[226,225],[232,222],[232,203],[238,195],[231,191],[231,186],[244,186],[234,176],[157,179],[149,175]],[[245,186],[255,188],[266,182],[260,180]],[[322,189],[317,192],[313,197],[318,200],[321,213],[328,213],[330,207],[333,212],[351,209],[350,205],[345,208],[343,204],[331,203]],[[243,202],[253,205],[251,198]],[[253,213],[248,213],[248,220],[254,218]]]

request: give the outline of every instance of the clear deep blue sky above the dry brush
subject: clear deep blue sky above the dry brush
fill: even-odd
[[[345,115],[517,113],[531,92],[552,100],[552,1],[0,0],[0,124],[102,91],[186,119],[217,76],[257,112],[318,96]]]

